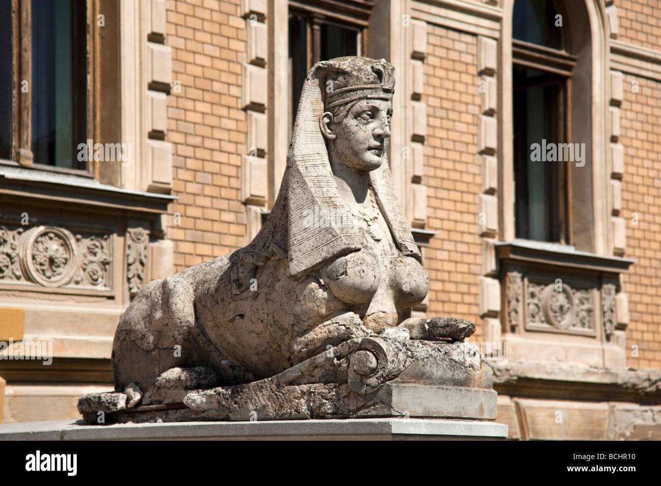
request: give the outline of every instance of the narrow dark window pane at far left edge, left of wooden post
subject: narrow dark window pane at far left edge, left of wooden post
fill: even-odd
[[[11,158],[12,67],[11,0],[0,0],[0,159]]]

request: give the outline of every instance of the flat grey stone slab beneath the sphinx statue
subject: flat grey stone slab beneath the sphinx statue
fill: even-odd
[[[346,419],[83,425],[0,425],[3,440],[504,440],[506,425],[440,419]]]

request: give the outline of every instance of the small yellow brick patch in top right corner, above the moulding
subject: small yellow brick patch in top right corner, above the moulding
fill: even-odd
[[[661,2],[659,0],[615,0],[617,40],[649,49],[661,48]]]

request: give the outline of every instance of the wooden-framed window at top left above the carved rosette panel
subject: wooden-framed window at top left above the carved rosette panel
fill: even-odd
[[[89,133],[87,15],[85,0],[0,0],[8,46],[0,52],[0,159],[88,169],[77,157]]]

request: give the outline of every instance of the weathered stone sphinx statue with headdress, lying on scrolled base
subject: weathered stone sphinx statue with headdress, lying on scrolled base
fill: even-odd
[[[87,421],[495,418],[491,370],[461,343],[475,326],[411,317],[429,278],[387,160],[394,74],[313,66],[261,231],[145,285],[116,331],[116,391],[79,401]]]

